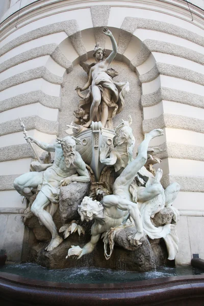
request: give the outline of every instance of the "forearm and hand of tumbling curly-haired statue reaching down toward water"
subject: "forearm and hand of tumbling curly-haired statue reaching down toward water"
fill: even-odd
[[[87,244],[85,244],[83,248],[81,248],[79,245],[72,245],[71,248],[68,250],[66,258],[70,256],[77,256],[77,259],[80,259],[83,255],[91,253],[94,250],[96,243],[99,239],[100,234],[96,236],[91,236],[91,240]]]

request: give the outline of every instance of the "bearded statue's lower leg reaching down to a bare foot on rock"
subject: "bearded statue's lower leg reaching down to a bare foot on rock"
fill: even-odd
[[[31,207],[31,211],[33,214],[40,219],[42,224],[47,228],[47,230],[52,235],[52,240],[50,241],[49,245],[45,248],[47,251],[51,251],[56,248],[62,241],[57,232],[57,227],[53,221],[52,216],[44,210],[44,208],[50,203],[50,200],[44,195],[42,191],[40,191],[33,202]]]

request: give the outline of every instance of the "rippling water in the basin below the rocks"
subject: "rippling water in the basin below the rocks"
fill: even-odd
[[[122,283],[167,276],[204,274],[204,271],[191,266],[175,268],[163,267],[149,272],[131,272],[94,267],[49,270],[33,263],[7,264],[0,268],[0,272],[17,274],[42,281],[72,284]]]

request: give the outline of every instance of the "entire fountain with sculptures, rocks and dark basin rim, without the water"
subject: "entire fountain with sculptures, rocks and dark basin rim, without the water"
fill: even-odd
[[[96,43],[95,63],[81,63],[88,79],[77,87],[80,101],[75,124],[67,124],[69,136],[49,144],[28,135],[25,140],[36,159],[30,172],[14,181],[28,202],[22,222],[35,240],[28,261],[50,269],[97,267],[150,271],[173,261],[179,247],[176,223],[179,211],[172,206],[180,191],[177,183],[161,184],[159,147],[149,147],[163,130],[146,134],[133,158],[135,137],[132,118],[113,118],[124,108],[129,82],[113,78],[109,65],[116,56]],[[81,92],[87,90],[85,95]],[[134,118],[133,118],[134,120]],[[35,145],[47,151],[39,158]],[[129,305],[202,304],[203,277],[182,276],[122,284],[62,284],[37,281],[10,273],[0,274],[3,305]],[[191,297],[191,299],[189,298]]]

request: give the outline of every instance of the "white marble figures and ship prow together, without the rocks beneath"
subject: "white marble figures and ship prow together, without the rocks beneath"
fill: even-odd
[[[78,245],[69,248],[67,258],[81,258],[91,253],[102,235],[105,257],[109,259],[114,247],[115,233],[131,227],[133,234],[127,237],[129,243],[141,245],[140,240],[146,235],[150,239],[163,238],[168,250],[168,259],[173,260],[179,244],[175,232],[179,212],[172,207],[172,203],[180,191],[180,186],[173,183],[164,190],[161,185],[162,170],[159,168],[156,171],[147,167],[149,142],[163,135],[163,130],[155,129],[146,134],[134,159],[135,138],[130,126],[131,116],[128,121],[122,120],[115,129],[113,128],[112,119],[124,107],[129,83],[113,80],[118,73],[108,67],[116,56],[117,44],[107,28],[104,29],[104,34],[110,37],[113,47],[111,54],[104,59],[106,50],[96,43],[93,53],[96,62],[81,63],[88,74],[88,81],[82,88],[75,89],[81,98],[78,110],[74,112],[77,132],[74,137],[57,139],[55,144],[25,136],[28,143],[33,143],[45,151],[55,152],[55,159],[53,163],[46,164],[33,161],[33,171],[17,177],[14,187],[29,200],[24,216],[37,216],[40,224],[51,233],[52,239],[45,250],[52,251],[63,242],[53,221],[53,215],[59,206],[60,188],[71,182],[90,182],[91,175],[99,182],[101,171],[107,171],[109,180],[104,182],[104,185],[93,186],[91,183],[91,193],[83,198],[78,207],[81,221],[94,220],[91,240],[83,247]],[[83,96],[81,92],[86,89],[88,93]],[[87,139],[85,134],[88,135]],[[86,145],[92,146],[92,159],[89,162],[88,158],[85,155],[82,157],[79,152],[79,148]],[[87,168],[91,168],[91,175]],[[114,168],[112,176],[110,168]],[[171,223],[174,224],[156,227],[151,219],[165,207],[172,210]]]

